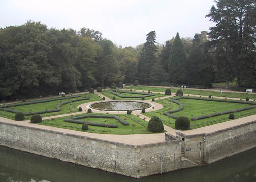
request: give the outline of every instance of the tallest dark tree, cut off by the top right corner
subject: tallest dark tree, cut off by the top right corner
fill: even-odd
[[[238,84],[242,85],[247,83],[248,78],[243,75],[247,73],[247,69],[253,69],[254,63],[249,55],[255,52],[255,1],[216,0],[215,3],[217,8],[212,6],[210,13],[206,15],[216,23],[209,32],[216,49],[215,56],[224,61],[224,63],[219,61],[215,64],[220,69],[218,70],[220,73],[229,75],[227,71],[233,70]],[[226,79],[226,87],[230,78]]]

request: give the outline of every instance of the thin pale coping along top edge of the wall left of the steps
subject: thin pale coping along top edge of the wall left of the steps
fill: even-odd
[[[70,134],[70,133],[65,133],[65,132],[60,132],[60,131],[52,131],[52,130],[48,130],[48,129],[42,129],[42,128],[36,128],[36,127],[30,127],[30,126],[22,126],[22,125],[17,125],[17,124],[13,124],[13,123],[6,123],[6,122],[1,122],[1,121],[0,121],[0,124],[12,125],[12,126],[17,126],[17,127],[23,127],[23,128],[27,128],[27,129],[34,129],[34,130],[38,130],[38,131],[45,131],[45,132],[50,132],[50,133],[55,133],[55,134],[62,134],[62,135],[67,135],[67,136],[75,136],[77,138],[94,140],[94,141],[99,141],[99,142],[105,142],[105,143],[119,145],[119,146],[127,146],[127,147],[130,147],[130,148],[145,148],[145,147],[152,147],[152,146],[158,146],[158,145],[163,145],[163,144],[177,144],[177,143],[179,143],[179,140],[177,139],[177,140],[156,142],[156,143],[150,143],[150,144],[131,145],[131,144],[124,144],[124,143],[121,143],[121,142],[114,142],[114,141],[92,138],[92,137],[89,137],[89,136],[82,136],[82,135],[78,135],[78,134]]]

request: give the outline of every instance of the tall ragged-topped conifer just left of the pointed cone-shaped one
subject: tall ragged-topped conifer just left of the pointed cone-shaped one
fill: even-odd
[[[149,73],[153,68],[153,65],[157,63],[155,53],[157,52],[157,47],[155,43],[156,33],[151,31],[146,35],[146,43],[144,43],[142,51],[140,53],[139,64],[138,64],[138,74],[139,82],[141,84],[149,84],[151,79]]]

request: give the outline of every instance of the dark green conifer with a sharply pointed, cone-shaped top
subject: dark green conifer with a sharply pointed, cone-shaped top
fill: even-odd
[[[177,33],[169,58],[169,74],[172,83],[186,83],[186,59],[185,49],[180,40],[179,33]]]

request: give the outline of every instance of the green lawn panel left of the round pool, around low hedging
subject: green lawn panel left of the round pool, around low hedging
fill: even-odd
[[[70,113],[70,111],[72,112],[78,112],[77,106],[83,103],[87,103],[87,102],[92,102],[92,101],[100,101],[102,100],[101,97],[97,96],[96,94],[81,94],[81,98],[84,97],[89,97],[89,100],[83,100],[83,101],[76,101],[76,102],[72,102],[72,103],[68,103],[65,105],[61,106],[61,111],[59,112],[51,112],[51,113],[45,113],[45,114],[41,114],[42,117],[47,117],[47,116],[53,116],[54,114],[56,115],[61,115],[61,114],[68,114]],[[70,100],[74,100],[77,98],[73,98]],[[36,112],[36,111],[45,111],[50,110],[50,109],[56,109],[56,106],[58,103],[60,102],[65,102],[68,101],[68,99],[64,99],[64,100],[58,100],[58,101],[50,101],[50,102],[45,102],[45,103],[37,103],[37,104],[30,104],[30,105],[24,105],[24,106],[17,106],[14,107],[14,110],[18,110],[21,112],[27,112],[29,113],[29,110],[31,109],[31,112]],[[11,113],[11,112],[6,112],[6,111],[0,111],[0,116],[1,117],[5,117],[8,119],[14,119],[15,118],[15,113]],[[30,119],[31,116],[25,116],[25,120],[26,119]]]

